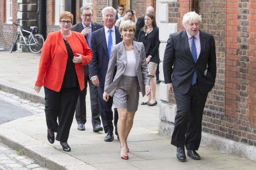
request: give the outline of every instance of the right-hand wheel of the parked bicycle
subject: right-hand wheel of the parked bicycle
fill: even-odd
[[[41,34],[37,33],[30,37],[28,40],[28,46],[31,53],[40,53],[44,44],[44,38]]]

